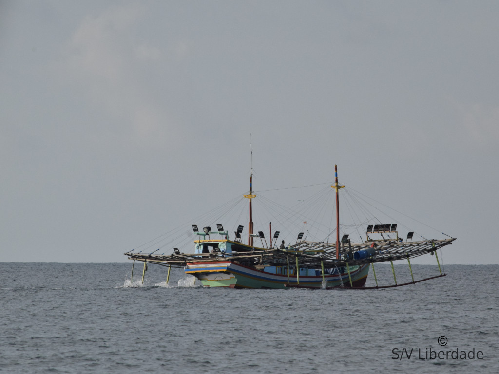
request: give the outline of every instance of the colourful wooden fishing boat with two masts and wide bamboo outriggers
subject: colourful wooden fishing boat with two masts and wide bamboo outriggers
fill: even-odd
[[[272,234],[271,223],[270,243],[267,245],[262,231],[254,232],[252,220],[252,199],[256,194],[252,191],[252,169],[250,175],[250,190],[243,195],[249,199],[249,223],[247,244],[243,243],[244,226],[239,225],[230,238],[222,224],[217,224],[217,230],[205,226],[202,230],[193,225],[193,232],[198,237],[194,241],[194,249],[187,253],[174,248],[172,254],[158,254],[160,249],[150,253],[144,250],[126,252],[125,255],[135,261],[143,261],[142,283],[147,264],[158,264],[168,267],[167,283],[172,267],[183,268],[186,274],[193,275],[206,287],[229,288],[259,288],[259,289],[367,289],[398,287],[414,284],[433,278],[445,276],[438,259],[437,250],[452,244],[456,239],[444,234],[445,239],[414,240],[414,232],[408,232],[405,239],[399,237],[397,223],[383,224],[373,218],[362,229],[365,239],[353,242],[350,234],[342,233],[340,237],[339,190],[345,186],[338,183],[337,167],[335,166],[335,182],[331,186],[335,193],[336,227],[332,232],[336,240],[306,240],[304,232],[298,233],[296,241],[285,245],[284,240],[277,245],[280,231]],[[301,200],[300,200],[301,201]],[[288,214],[289,211],[288,211]],[[372,222],[372,223],[371,223]],[[306,221],[303,222],[306,224]],[[357,230],[358,230],[357,226]],[[308,231],[307,231],[308,232]],[[246,233],[246,232],[245,232]],[[220,235],[211,238],[211,235]],[[208,238],[207,238],[208,237]],[[261,246],[255,245],[259,240]],[[246,239],[245,239],[246,241]],[[154,243],[156,244],[156,243]],[[152,244],[152,245],[154,245]],[[435,254],[439,274],[423,279],[414,279],[411,258],[424,254]],[[397,284],[393,261],[408,262],[412,281]],[[374,264],[390,262],[393,271],[394,284],[379,286]],[[372,268],[376,286],[365,287],[369,269]],[[133,267],[132,267],[133,284]]]

